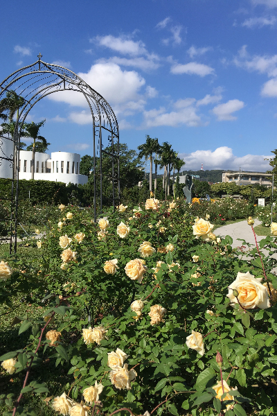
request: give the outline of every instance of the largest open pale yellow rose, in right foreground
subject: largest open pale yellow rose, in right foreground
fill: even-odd
[[[260,283],[262,277],[256,278],[249,272],[238,272],[237,278],[229,285],[229,293],[227,297],[231,300],[232,304],[238,303],[245,309],[267,309],[270,308],[269,295],[267,288]],[[233,289],[238,291],[238,300],[233,295]]]

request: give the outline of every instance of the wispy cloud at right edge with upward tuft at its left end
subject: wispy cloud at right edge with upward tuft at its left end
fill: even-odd
[[[248,71],[267,73],[268,76],[277,76],[277,54],[276,55],[249,55],[247,45],[242,46],[238,55],[233,60],[237,67]]]

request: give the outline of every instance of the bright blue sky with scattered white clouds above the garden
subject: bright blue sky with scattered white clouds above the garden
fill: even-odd
[[[169,141],[186,168],[265,171],[277,148],[277,0],[6,1],[0,78],[58,63],[104,96],[120,141]],[[87,108],[52,94],[50,151],[92,155]]]

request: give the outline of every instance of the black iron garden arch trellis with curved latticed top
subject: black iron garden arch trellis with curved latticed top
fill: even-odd
[[[24,98],[24,105],[19,110],[15,124],[15,133],[13,137],[7,137],[0,132],[0,166],[6,161],[12,168],[12,179],[10,196],[10,254],[12,249],[17,250],[17,211],[19,203],[19,148],[21,126],[26,120],[30,110],[42,98],[55,92],[71,91],[81,93],[89,110],[92,119],[93,135],[93,215],[94,221],[102,213],[102,153],[111,157],[111,203],[114,207],[120,199],[120,171],[119,171],[119,132],[116,116],[111,106],[105,98],[85,83],[80,76],[57,64],[48,64],[42,61],[42,55],[39,53],[38,60],[18,69],[11,73],[8,78],[0,84],[0,100],[6,95],[6,92],[13,90],[17,95]],[[6,155],[3,151],[3,141],[12,141],[13,151],[11,155]],[[107,153],[103,148],[109,146],[111,153]],[[98,154],[99,150],[99,154]],[[97,166],[98,165],[98,166]],[[99,167],[99,174],[98,169]],[[98,192],[97,184],[99,183],[100,191]],[[0,195],[0,200],[5,199]],[[99,209],[98,209],[99,207]],[[1,223],[1,218],[0,218]],[[7,237],[0,240],[7,239]],[[1,243],[1,241],[0,241]]]

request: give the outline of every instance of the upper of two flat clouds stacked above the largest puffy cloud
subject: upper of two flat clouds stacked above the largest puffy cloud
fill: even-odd
[[[145,49],[145,44],[139,40],[134,42],[129,36],[115,37],[112,35],[96,36],[89,40],[99,46],[105,46],[113,51],[122,53],[123,55],[145,55],[148,51]]]

